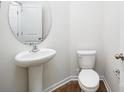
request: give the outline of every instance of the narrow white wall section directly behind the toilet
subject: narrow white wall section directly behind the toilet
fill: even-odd
[[[71,73],[76,75],[76,50],[96,49],[96,71],[103,75],[103,5],[102,2],[71,2],[70,55]]]

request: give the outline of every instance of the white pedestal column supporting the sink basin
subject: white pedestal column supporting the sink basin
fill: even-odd
[[[29,92],[42,92],[43,65],[28,68]]]

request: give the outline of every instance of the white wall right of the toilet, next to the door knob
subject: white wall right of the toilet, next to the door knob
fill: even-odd
[[[119,91],[119,80],[113,70],[120,68],[114,55],[120,51],[120,3],[104,3],[104,61],[105,78],[112,91]]]

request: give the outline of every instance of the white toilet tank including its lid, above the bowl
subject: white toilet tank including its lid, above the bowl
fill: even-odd
[[[81,69],[92,69],[95,67],[96,50],[78,50],[77,61]]]

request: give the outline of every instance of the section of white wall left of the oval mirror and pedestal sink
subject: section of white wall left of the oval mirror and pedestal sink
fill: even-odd
[[[0,8],[0,91],[27,91],[27,70],[16,67],[14,56],[29,47],[18,42],[8,24],[8,3]]]

